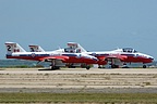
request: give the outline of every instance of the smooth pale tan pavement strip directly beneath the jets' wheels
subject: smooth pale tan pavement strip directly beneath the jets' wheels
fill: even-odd
[[[0,68],[0,74],[157,74],[157,68]]]

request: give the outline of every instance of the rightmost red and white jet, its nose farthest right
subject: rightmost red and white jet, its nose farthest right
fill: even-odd
[[[99,63],[97,63],[99,67],[107,63],[110,63],[112,68],[118,68],[119,64],[125,65],[126,63],[143,63],[143,68],[146,68],[145,64],[154,61],[153,56],[137,52],[132,48],[117,49],[113,51],[87,52],[78,43],[70,42],[68,46],[69,51],[73,50],[73,52],[77,52],[77,50],[82,49],[84,50],[82,53],[97,57],[99,60]]]

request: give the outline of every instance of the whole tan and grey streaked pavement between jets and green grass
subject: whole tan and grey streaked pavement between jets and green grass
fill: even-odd
[[[0,92],[157,93],[157,68],[0,68]]]

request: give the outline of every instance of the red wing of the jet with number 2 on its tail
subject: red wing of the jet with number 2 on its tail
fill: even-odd
[[[64,62],[69,60],[69,56],[57,55],[57,56],[46,56],[46,57],[39,58],[39,61],[45,61],[45,62],[51,62],[52,60],[59,60],[59,61]]]

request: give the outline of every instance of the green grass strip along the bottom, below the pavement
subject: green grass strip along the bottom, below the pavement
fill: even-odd
[[[0,93],[0,103],[157,104],[157,93]]]

